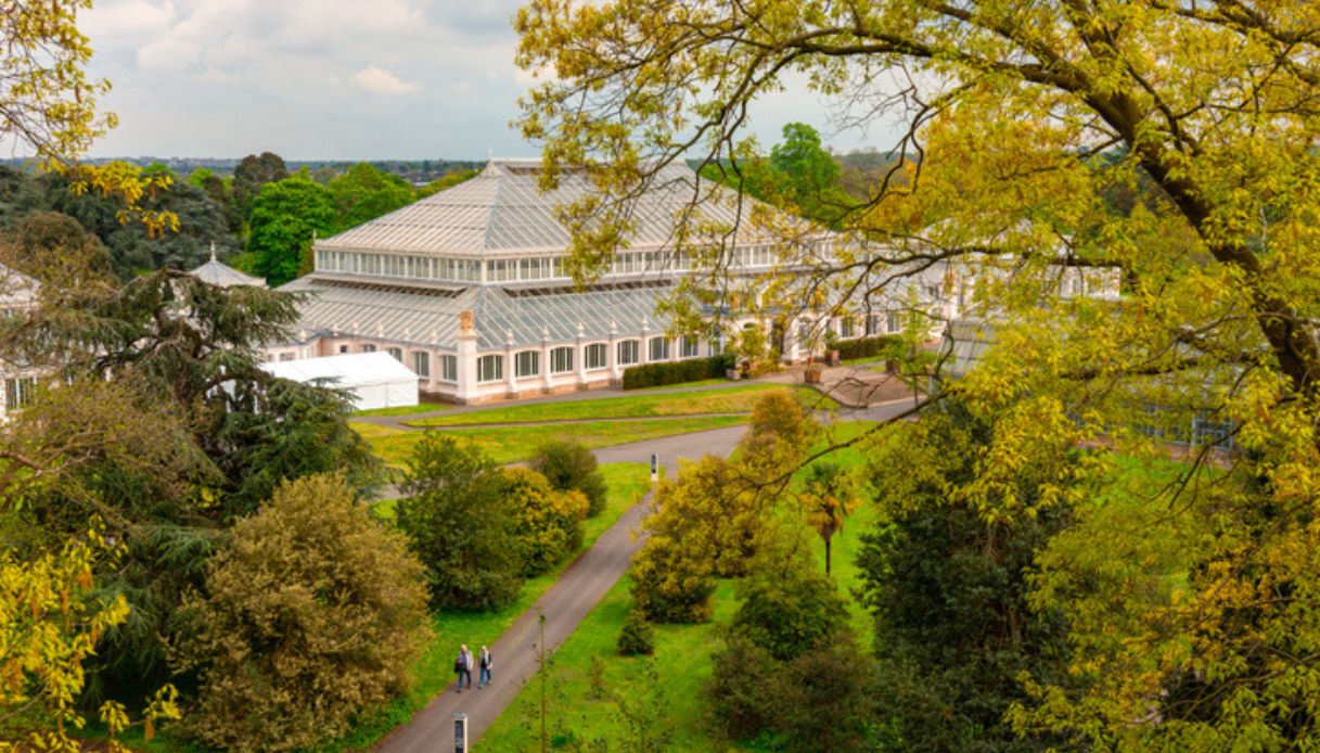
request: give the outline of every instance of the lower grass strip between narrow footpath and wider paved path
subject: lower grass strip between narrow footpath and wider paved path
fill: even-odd
[[[484,427],[475,429],[446,428],[446,433],[484,449],[495,462],[527,460],[536,448],[549,439],[566,439],[589,448],[610,447],[631,441],[718,429],[746,423],[746,416],[697,416],[664,421],[585,421],[548,427]],[[387,464],[403,466],[404,458],[421,439],[422,432],[395,429],[375,424],[351,423],[358,433],[371,443],[376,454]]]

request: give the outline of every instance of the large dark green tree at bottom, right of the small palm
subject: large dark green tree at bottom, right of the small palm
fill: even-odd
[[[1012,431],[1006,421],[948,400],[894,427],[870,460],[884,523],[862,535],[859,596],[875,618],[887,678],[879,696],[895,745],[1063,744],[1047,733],[1023,737],[1005,716],[1028,698],[1022,675],[1067,675],[1068,622],[1057,609],[1031,609],[1031,572],[1085,498],[1088,462],[1059,447],[1015,469],[1014,485],[991,493],[998,499],[973,503],[968,493],[986,474],[978,458],[1005,431]],[[977,509],[1006,507],[1007,497],[1024,514],[989,520]]]

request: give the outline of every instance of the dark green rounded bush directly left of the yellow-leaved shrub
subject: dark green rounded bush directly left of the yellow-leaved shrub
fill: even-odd
[[[438,609],[498,609],[523,587],[517,510],[479,449],[426,432],[404,472],[399,527]]]

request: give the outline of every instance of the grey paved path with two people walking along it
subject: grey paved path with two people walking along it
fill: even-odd
[[[729,427],[709,432],[696,432],[677,437],[653,441],[632,443],[595,450],[597,460],[605,462],[643,461],[648,462],[651,453],[660,453],[661,462],[672,473],[678,457],[701,457],[705,453],[727,456],[743,427]],[[560,580],[556,581],[531,609],[519,617],[512,628],[491,646],[495,658],[495,671],[491,684],[480,691],[455,692],[450,683],[445,692],[436,696],[426,708],[417,712],[412,721],[393,731],[378,745],[383,753],[449,753],[454,749],[454,713],[467,715],[467,741],[471,746],[482,733],[499,717],[500,712],[517,698],[523,684],[536,674],[536,651],[533,645],[540,638],[537,614],[545,614],[545,643],[557,649],[577,629],[582,618],[595,608],[606,592],[628,569],[632,554],[640,542],[632,540],[632,531],[645,517],[651,495],[634,505],[619,518],[609,531],[597,539]],[[454,637],[454,650],[458,654],[461,637]],[[470,646],[474,653],[478,646]],[[477,671],[473,672],[474,678]]]

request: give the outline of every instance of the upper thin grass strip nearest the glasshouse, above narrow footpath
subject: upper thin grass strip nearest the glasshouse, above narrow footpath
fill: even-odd
[[[729,390],[700,390],[690,392],[652,392],[570,400],[562,403],[531,403],[506,406],[484,411],[434,416],[409,421],[414,427],[461,427],[466,424],[503,424],[527,421],[557,421],[574,419],[645,419],[656,416],[693,416],[700,413],[746,413],[756,400],[770,392],[792,391],[804,406],[824,408],[821,395],[804,387],[785,384],[744,384]],[[833,404],[833,400],[828,404]]]

